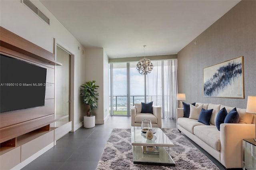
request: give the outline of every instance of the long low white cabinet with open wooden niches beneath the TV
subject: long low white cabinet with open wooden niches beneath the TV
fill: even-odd
[[[54,146],[54,142],[70,132],[72,122],[60,121],[68,115],[57,116],[55,121],[14,138],[14,147],[0,147],[0,170],[21,169]]]

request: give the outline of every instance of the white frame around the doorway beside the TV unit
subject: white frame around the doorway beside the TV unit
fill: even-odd
[[[72,53],[68,48],[61,45],[55,38],[54,38],[54,60],[56,61],[57,56],[57,46],[66,51],[70,54],[70,121],[72,121],[72,130],[71,132],[74,132],[74,63],[75,63],[75,55]],[[61,67],[56,66],[55,67]],[[54,67],[54,68],[55,68]],[[56,71],[54,69],[54,115],[56,115]]]

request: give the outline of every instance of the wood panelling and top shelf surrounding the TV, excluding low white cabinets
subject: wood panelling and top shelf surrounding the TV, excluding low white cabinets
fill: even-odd
[[[43,127],[46,122],[54,120],[54,65],[61,63],[54,61],[53,53],[2,27],[0,27],[0,43],[0,53],[46,68],[46,83],[52,85],[52,88],[46,89],[45,106],[0,114],[0,143],[2,143]]]

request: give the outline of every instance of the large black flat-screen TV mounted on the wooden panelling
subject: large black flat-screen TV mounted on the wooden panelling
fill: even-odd
[[[0,113],[44,106],[46,71],[0,54]]]

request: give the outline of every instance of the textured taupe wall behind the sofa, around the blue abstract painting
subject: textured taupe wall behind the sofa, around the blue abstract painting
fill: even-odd
[[[203,97],[203,68],[241,55],[245,99]],[[256,95],[256,1],[242,0],[178,52],[178,93],[185,102],[246,108],[247,96]]]

